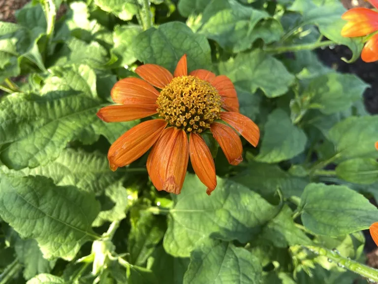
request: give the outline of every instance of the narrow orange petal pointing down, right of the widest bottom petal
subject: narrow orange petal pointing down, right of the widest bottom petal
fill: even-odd
[[[207,186],[206,193],[210,195],[217,186],[214,160],[203,138],[192,132],[189,137],[189,155],[195,174]]]

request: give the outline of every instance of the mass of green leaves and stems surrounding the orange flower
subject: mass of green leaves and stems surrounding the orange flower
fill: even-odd
[[[338,0],[33,0],[0,22],[0,284],[377,280],[360,231],[378,220],[378,117],[369,86],[314,51],[359,57],[343,12]],[[211,196],[191,168],[180,195],[158,192],[146,155],[112,172],[110,144],[139,120],[95,115],[137,66],[174,71],[184,54],[189,71],[232,80],[261,132],[237,167],[205,137]]]

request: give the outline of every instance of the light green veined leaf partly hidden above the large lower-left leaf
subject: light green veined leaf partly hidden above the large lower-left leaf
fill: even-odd
[[[106,155],[88,153],[83,150],[64,149],[58,159],[45,166],[21,171],[4,172],[22,176],[45,176],[52,178],[57,185],[74,185],[80,189],[100,194],[106,187],[119,181],[125,174],[109,169]]]

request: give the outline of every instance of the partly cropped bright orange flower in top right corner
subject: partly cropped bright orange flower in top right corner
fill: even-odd
[[[378,9],[378,0],[369,0]],[[378,31],[378,12],[368,8],[352,8],[342,16],[348,23],[341,31],[342,36],[355,37],[367,36]],[[361,52],[361,58],[365,62],[378,60],[378,34],[371,36]]]

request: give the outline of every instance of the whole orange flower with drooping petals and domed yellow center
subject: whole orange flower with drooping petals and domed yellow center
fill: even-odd
[[[129,165],[152,147],[147,171],[158,190],[180,193],[190,157],[194,172],[210,194],[217,178],[213,157],[201,133],[211,131],[231,165],[242,161],[242,142],[235,130],[253,146],[259,140],[257,125],[239,113],[231,80],[202,69],[188,74],[186,55],[173,75],[154,64],[142,65],[135,72],[143,80],[118,81],[111,96],[120,105],[103,107],[97,116],[106,122],[155,114],[160,118],[144,121],[117,139],[108,152],[110,168],[115,171]]]

